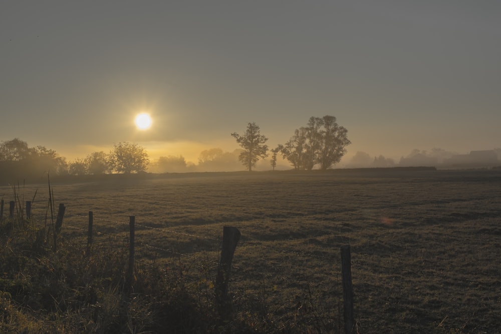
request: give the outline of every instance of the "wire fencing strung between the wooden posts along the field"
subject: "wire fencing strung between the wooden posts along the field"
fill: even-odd
[[[88,231],[86,225],[88,219],[89,215],[87,214],[67,212],[63,225],[63,233],[70,238],[74,237],[74,231],[78,231],[82,237],[85,237]],[[99,216],[99,214],[93,216],[93,219],[102,223],[96,224],[93,230],[95,247],[116,247],[117,244],[126,244],[128,242],[129,234],[127,228],[129,227],[129,222],[112,219],[109,215]],[[187,262],[210,263],[214,267],[215,272],[215,267],[219,263],[218,256],[222,242],[219,234],[198,235],[177,231],[172,228],[150,226],[145,223],[136,224],[135,226],[139,232],[136,240],[139,245],[139,251],[136,253],[137,258],[135,258],[135,261],[151,265],[150,253],[156,253],[163,254],[162,258],[165,261],[168,261],[169,258],[177,257],[185,258]],[[155,232],[161,234],[162,237],[156,236],[155,240],[145,240],[141,238],[142,231]],[[292,289],[294,291],[289,291],[288,293],[294,295],[295,306],[293,307],[293,312],[298,312],[303,307],[305,304],[305,295],[307,298],[310,298],[310,302],[312,299],[322,302],[321,298],[330,297],[335,300],[330,305],[335,305],[336,309],[330,309],[329,312],[331,314],[340,314],[339,305],[342,298],[341,265],[337,250],[339,250],[342,244],[331,244],[329,245],[329,249],[325,251],[310,251],[301,248],[297,243],[294,244],[294,247],[282,247],[275,245],[273,240],[251,238],[245,235],[245,231],[241,232],[242,237],[237,246],[238,252],[232,265],[233,282],[239,281],[239,284],[233,284],[234,289],[243,289],[243,292],[246,293],[268,289],[268,293],[275,296],[276,300],[284,299],[277,296],[280,290]],[[114,240],[115,242],[110,243],[108,242],[109,240]],[[85,243],[85,240],[82,239],[82,242]],[[256,249],[261,250],[259,252],[259,261],[256,256],[251,256],[256,253]],[[143,251],[144,254],[142,254]],[[266,254],[265,257],[263,257],[264,254]],[[441,286],[453,285],[453,282],[460,282],[464,284],[463,291],[464,289],[488,291],[499,296],[501,294],[501,281],[499,280],[501,271],[498,267],[497,276],[477,273],[474,278],[465,278],[446,274],[439,269],[432,269],[440,268],[439,262],[428,261],[426,268],[419,269],[402,265],[378,264],[374,260],[360,258],[356,253],[353,253],[352,259],[352,271],[355,281],[356,317],[363,318],[363,314],[359,313],[357,315],[357,308],[362,308],[359,305],[370,304],[372,307],[392,308],[393,312],[397,313],[400,310],[401,312],[423,314],[427,319],[431,319],[437,328],[447,321],[457,328],[469,328],[468,330],[474,329],[489,332],[492,329],[478,323],[474,314],[472,317],[465,319],[454,318],[454,315],[444,314],[441,311],[442,308],[439,307],[435,307],[436,310],[430,310],[430,307],[427,307],[430,304],[426,300],[429,299],[428,296],[419,297],[413,295],[412,291],[408,291],[405,288],[402,289],[401,287],[412,284],[416,279],[430,279],[435,284]],[[314,267],[317,262],[322,263],[322,268],[329,269],[322,273],[315,272]],[[395,262],[401,263],[403,261]],[[309,267],[309,269],[305,270],[305,267]],[[477,277],[483,278],[478,279]],[[358,288],[357,284],[363,279],[365,279],[365,284],[368,284],[368,286],[360,284],[361,286]],[[242,284],[241,281],[244,280],[247,281],[246,284]],[[369,284],[375,280],[378,281],[377,284]],[[397,287],[395,284],[395,281],[398,280],[402,281],[400,287]],[[266,286],[263,286],[264,282]],[[371,288],[387,290],[387,296],[384,296],[384,293],[380,293],[380,291],[371,291]],[[312,290],[315,291],[314,296],[312,296]],[[453,298],[442,300],[441,302],[446,304],[448,308],[455,309],[476,309],[478,308],[478,304],[481,304],[481,307],[488,309],[489,312],[498,309],[501,304],[499,298],[483,298],[475,303],[474,300],[466,296],[466,292],[463,296],[460,293],[455,295],[455,299],[458,300],[461,300],[462,297],[467,299],[467,302],[455,302],[452,300]],[[290,296],[286,298],[292,301]],[[273,302],[271,303],[273,304]],[[276,309],[285,309],[285,307],[280,306],[280,301],[276,301],[276,305]],[[493,314],[499,315],[500,313],[497,311],[497,313],[494,312]],[[392,314],[392,316],[394,317],[395,314]],[[335,315],[331,315],[332,317],[335,317]],[[363,326],[364,324],[360,323],[359,325]]]

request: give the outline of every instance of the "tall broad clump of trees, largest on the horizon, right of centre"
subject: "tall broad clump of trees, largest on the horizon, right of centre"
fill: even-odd
[[[294,131],[281,153],[295,169],[311,170],[319,165],[325,170],[346,154],[346,146],[351,144],[347,133],[334,116],[311,117],[306,127]]]

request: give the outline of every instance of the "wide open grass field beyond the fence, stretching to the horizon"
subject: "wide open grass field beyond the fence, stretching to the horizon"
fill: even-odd
[[[36,189],[42,221],[47,187],[18,193]],[[200,298],[212,293],[223,226],[237,227],[229,289],[240,319],[265,323],[256,331],[343,332],[345,244],[360,333],[501,330],[501,171],[110,176],[53,191],[73,247],[85,249],[89,211],[96,249],[126,247],[133,215],[136,260],[175,271]]]

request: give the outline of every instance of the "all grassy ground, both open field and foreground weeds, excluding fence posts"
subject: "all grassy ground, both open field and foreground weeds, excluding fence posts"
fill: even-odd
[[[30,221],[0,224],[0,326],[343,332],[339,253],[349,244],[359,332],[494,333],[501,327],[500,173],[372,168],[54,180],[55,203],[67,207],[57,251],[45,230],[47,191],[38,190]],[[16,196],[32,199],[41,187],[21,187]],[[0,190],[12,198],[12,188]],[[124,288],[129,215],[137,229],[133,291]],[[225,320],[213,290],[223,226],[241,232]]]

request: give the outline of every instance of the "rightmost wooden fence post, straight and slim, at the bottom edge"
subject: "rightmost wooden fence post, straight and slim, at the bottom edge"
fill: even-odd
[[[341,267],[343,272],[345,332],[346,334],[351,334],[355,332],[355,317],[353,316],[350,245],[341,246]]]

